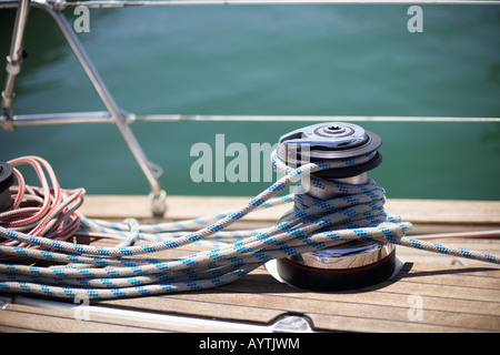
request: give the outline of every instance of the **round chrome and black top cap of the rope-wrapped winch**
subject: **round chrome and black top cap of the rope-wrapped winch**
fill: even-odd
[[[348,159],[373,152],[381,144],[378,134],[357,124],[327,122],[283,134],[278,141],[277,154],[283,162],[298,163]]]

